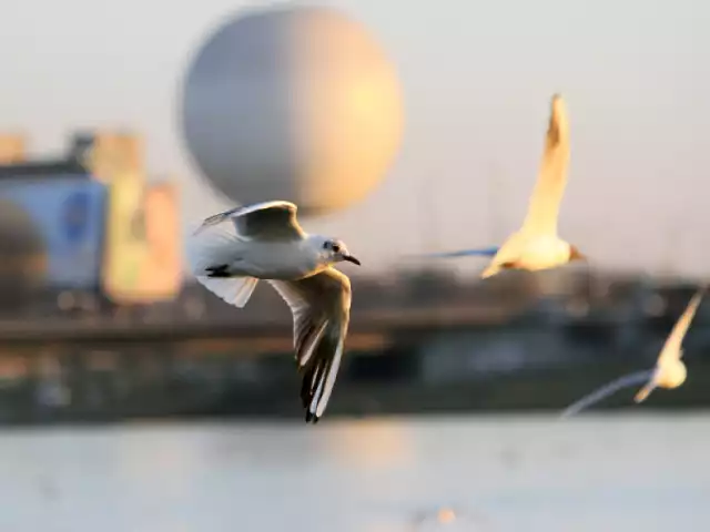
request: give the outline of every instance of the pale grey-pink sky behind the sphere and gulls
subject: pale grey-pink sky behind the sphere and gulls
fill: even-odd
[[[79,126],[136,129],[150,172],[178,176],[195,198],[183,205],[194,223],[223,204],[184,153],[179,88],[207,32],[258,3],[8,0],[0,127],[24,130],[36,154],[62,151]],[[302,221],[306,231],[342,237],[373,269],[491,244],[523,219],[559,91],[572,144],[561,236],[604,266],[710,270],[710,4],[321,3],[365,23],[393,59],[406,129],[384,184],[346,212]]]

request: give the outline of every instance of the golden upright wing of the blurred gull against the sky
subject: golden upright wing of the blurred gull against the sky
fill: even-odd
[[[565,103],[552,96],[545,151],[537,183],[530,196],[523,231],[534,234],[557,234],[559,206],[567,185],[569,165],[569,124]]]

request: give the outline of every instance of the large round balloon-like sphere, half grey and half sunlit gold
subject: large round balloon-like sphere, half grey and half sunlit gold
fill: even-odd
[[[378,44],[339,12],[257,10],[197,53],[182,127],[204,177],[232,201],[323,214],[383,180],[402,140],[402,91]]]

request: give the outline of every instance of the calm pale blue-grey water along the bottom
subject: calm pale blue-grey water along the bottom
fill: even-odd
[[[12,430],[0,530],[704,532],[709,453],[710,415]]]

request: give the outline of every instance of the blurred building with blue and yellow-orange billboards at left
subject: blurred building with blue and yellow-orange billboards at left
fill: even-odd
[[[41,160],[26,149],[24,136],[0,134],[0,313],[91,313],[178,295],[179,191],[148,182],[139,135],[81,132]]]

